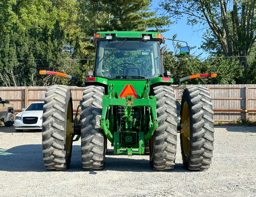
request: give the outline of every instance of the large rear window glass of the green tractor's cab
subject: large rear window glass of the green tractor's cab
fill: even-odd
[[[158,41],[99,41],[96,76],[112,79],[156,78],[161,74]]]

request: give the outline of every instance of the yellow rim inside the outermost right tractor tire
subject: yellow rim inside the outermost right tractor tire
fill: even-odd
[[[189,152],[189,144],[190,144],[190,120],[189,120],[189,109],[188,104],[185,102],[182,107],[181,114],[181,144],[184,155],[187,156]]]

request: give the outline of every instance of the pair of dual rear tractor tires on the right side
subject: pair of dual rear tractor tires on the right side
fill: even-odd
[[[174,91],[169,86],[153,88],[157,97],[158,129],[150,139],[150,164],[154,170],[174,168],[177,143],[177,114]],[[187,170],[205,171],[212,163],[214,120],[207,88],[185,88],[180,111],[180,145]]]

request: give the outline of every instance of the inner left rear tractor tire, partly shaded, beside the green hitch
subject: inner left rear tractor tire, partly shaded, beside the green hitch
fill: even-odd
[[[83,91],[81,149],[82,167],[100,170],[105,166],[106,136],[100,128],[104,88],[86,86]]]

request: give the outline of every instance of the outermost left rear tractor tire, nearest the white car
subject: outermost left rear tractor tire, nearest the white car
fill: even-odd
[[[72,152],[73,108],[68,86],[50,86],[44,99],[42,145],[47,170],[66,170]]]

